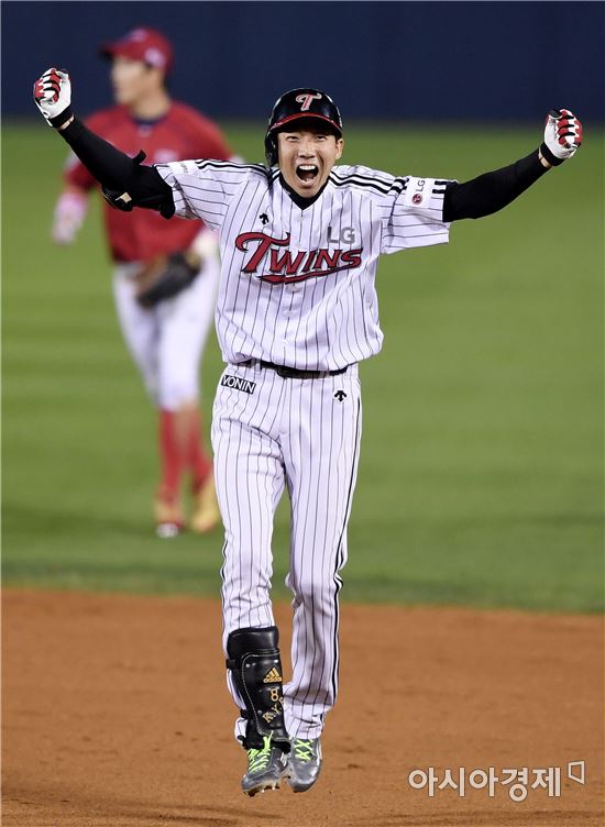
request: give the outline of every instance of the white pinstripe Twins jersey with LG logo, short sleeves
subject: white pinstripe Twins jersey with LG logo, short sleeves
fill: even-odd
[[[217,333],[226,362],[332,371],[382,346],[378,256],[442,244],[449,181],[334,166],[300,209],[278,169],[218,161],[156,165],[176,214],[219,231]]]

